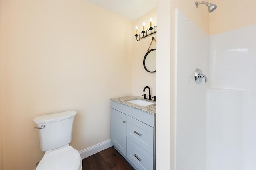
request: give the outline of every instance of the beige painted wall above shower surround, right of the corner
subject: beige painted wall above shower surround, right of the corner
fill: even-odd
[[[210,0],[217,9],[210,14],[210,35],[256,24],[256,0]]]

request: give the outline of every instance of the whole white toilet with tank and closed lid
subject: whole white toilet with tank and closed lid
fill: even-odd
[[[38,116],[33,119],[38,129],[40,149],[45,152],[36,170],[82,170],[82,158],[69,143],[76,111]]]

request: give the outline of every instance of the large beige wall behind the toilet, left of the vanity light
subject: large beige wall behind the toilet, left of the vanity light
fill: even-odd
[[[79,151],[110,139],[109,99],[132,93],[132,21],[86,1],[3,0],[2,9],[4,170],[42,158],[38,115],[76,110]]]

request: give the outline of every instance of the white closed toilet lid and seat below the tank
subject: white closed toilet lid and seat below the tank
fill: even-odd
[[[36,170],[81,170],[82,159],[71,146],[44,154]]]

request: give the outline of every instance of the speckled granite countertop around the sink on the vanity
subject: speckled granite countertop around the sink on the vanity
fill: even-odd
[[[128,102],[130,100],[136,100],[136,99],[145,100],[146,102],[152,102],[155,104],[152,104],[149,106],[140,106],[140,105]],[[118,102],[125,106],[129,106],[129,107],[144,111],[144,112],[152,114],[152,115],[156,115],[156,102],[154,102],[153,100],[144,99],[143,97],[140,97],[140,96],[126,96],[126,97],[120,97],[120,98],[112,98],[110,100],[112,100],[114,102]]]

